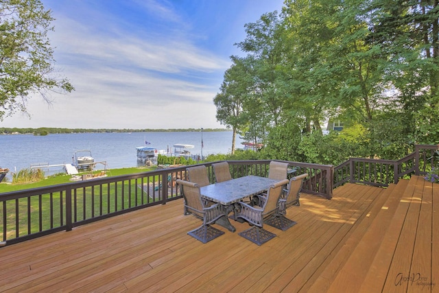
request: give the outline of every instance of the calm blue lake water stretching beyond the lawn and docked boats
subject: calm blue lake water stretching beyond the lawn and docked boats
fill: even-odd
[[[228,154],[232,148],[231,131],[71,133],[43,137],[33,134],[0,135],[0,167],[16,172],[38,163],[72,163],[76,150],[91,150],[95,161],[105,161],[107,169],[136,167],[139,164],[136,148],[139,146],[167,151],[175,143],[185,143],[195,146],[190,150],[192,154],[201,154],[201,139],[204,157],[209,154]],[[145,145],[145,140],[151,144]],[[242,148],[241,142],[237,137],[237,148]],[[96,169],[104,169],[103,165],[99,165],[96,165]],[[61,167],[58,170],[50,169],[51,172],[62,170]]]

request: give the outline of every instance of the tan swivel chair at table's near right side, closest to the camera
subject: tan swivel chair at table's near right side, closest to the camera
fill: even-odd
[[[288,180],[282,180],[271,185],[268,189],[267,196],[258,196],[259,205],[251,206],[245,202],[238,202],[241,208],[237,211],[237,218],[242,218],[249,222],[252,227],[246,231],[238,233],[240,236],[250,240],[251,242],[262,245],[268,240],[276,237],[276,234],[271,233],[263,228],[263,219],[278,213],[278,202],[282,193],[283,186],[288,183]]]

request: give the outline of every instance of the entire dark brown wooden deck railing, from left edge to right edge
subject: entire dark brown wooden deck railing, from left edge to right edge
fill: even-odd
[[[411,174],[427,174],[438,163],[437,145],[416,145],[399,161],[351,158],[345,163],[318,165],[284,161],[294,168],[289,176],[309,174],[302,192],[332,198],[333,188],[344,183],[386,187]],[[268,176],[270,161],[228,161],[233,178]],[[215,183],[212,163],[209,179]],[[95,178],[0,194],[0,246],[14,244],[75,226],[128,213],[181,198],[176,179],[186,179],[186,167]]]

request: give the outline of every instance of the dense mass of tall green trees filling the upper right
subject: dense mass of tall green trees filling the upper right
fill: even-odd
[[[233,127],[265,145],[261,158],[333,165],[439,143],[438,23],[438,1],[284,1],[237,43],[246,99]],[[329,118],[345,129],[322,136]]]

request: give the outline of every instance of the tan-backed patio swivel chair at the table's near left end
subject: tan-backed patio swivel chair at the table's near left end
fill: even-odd
[[[196,183],[178,179],[177,184],[180,185],[183,198],[185,198],[185,215],[193,214],[203,221],[200,227],[187,234],[202,243],[223,235],[223,231],[214,228],[211,224],[222,216],[226,216],[226,208],[222,204],[212,204],[210,207],[205,207],[200,194],[200,186]]]

